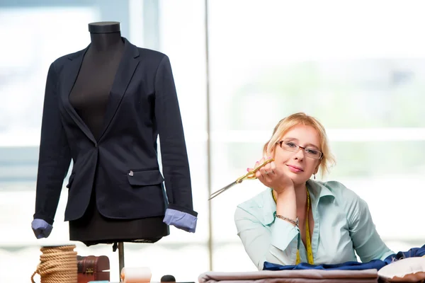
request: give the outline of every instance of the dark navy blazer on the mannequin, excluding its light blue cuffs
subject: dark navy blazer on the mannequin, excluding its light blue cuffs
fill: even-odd
[[[197,216],[169,58],[124,40],[123,58],[98,141],[69,103],[69,93],[89,47],[50,65],[34,219],[53,223],[71,160],[65,221],[83,216],[92,188],[96,188],[99,212],[113,219],[164,216],[166,202],[170,209]],[[166,197],[157,158],[158,134]]]

